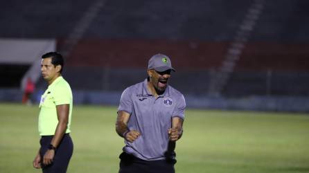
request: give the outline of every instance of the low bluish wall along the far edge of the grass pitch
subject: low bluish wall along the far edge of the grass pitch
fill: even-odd
[[[35,91],[33,101],[38,104],[44,92]],[[21,102],[20,89],[0,89],[1,102]],[[83,91],[73,90],[74,104],[97,104],[117,106],[121,97],[118,91]],[[248,110],[248,111],[292,111],[309,112],[308,97],[292,96],[258,96],[252,95],[242,98],[209,97],[185,94],[188,108]]]

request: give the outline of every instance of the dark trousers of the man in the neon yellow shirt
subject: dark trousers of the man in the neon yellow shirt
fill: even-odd
[[[39,143],[41,148],[39,149],[39,155],[41,156],[41,161],[43,162],[43,156],[48,149],[48,145],[51,143],[53,136],[42,136]],[[65,173],[67,172],[67,167],[69,161],[73,154],[73,142],[69,134],[64,134],[60,144],[58,145],[55,156],[53,158],[53,163],[51,165],[42,165],[42,171],[44,173]]]

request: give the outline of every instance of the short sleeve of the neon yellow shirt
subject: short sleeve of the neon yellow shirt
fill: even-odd
[[[57,86],[55,93],[53,93],[53,101],[55,105],[71,104],[71,89],[64,84]]]

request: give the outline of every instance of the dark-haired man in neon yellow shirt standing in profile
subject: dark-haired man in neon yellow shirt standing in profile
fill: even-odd
[[[46,172],[67,172],[73,154],[69,136],[73,96],[70,85],[62,78],[64,60],[60,53],[42,55],[41,72],[48,88],[39,103],[39,141],[41,147],[33,167]]]

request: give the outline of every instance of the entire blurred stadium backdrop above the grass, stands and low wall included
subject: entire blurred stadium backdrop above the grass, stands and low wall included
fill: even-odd
[[[309,111],[309,1],[12,0],[0,8],[1,102],[21,102],[32,86],[26,97],[37,103],[46,89],[40,58],[58,51],[76,104],[116,105],[163,53],[188,107]]]

